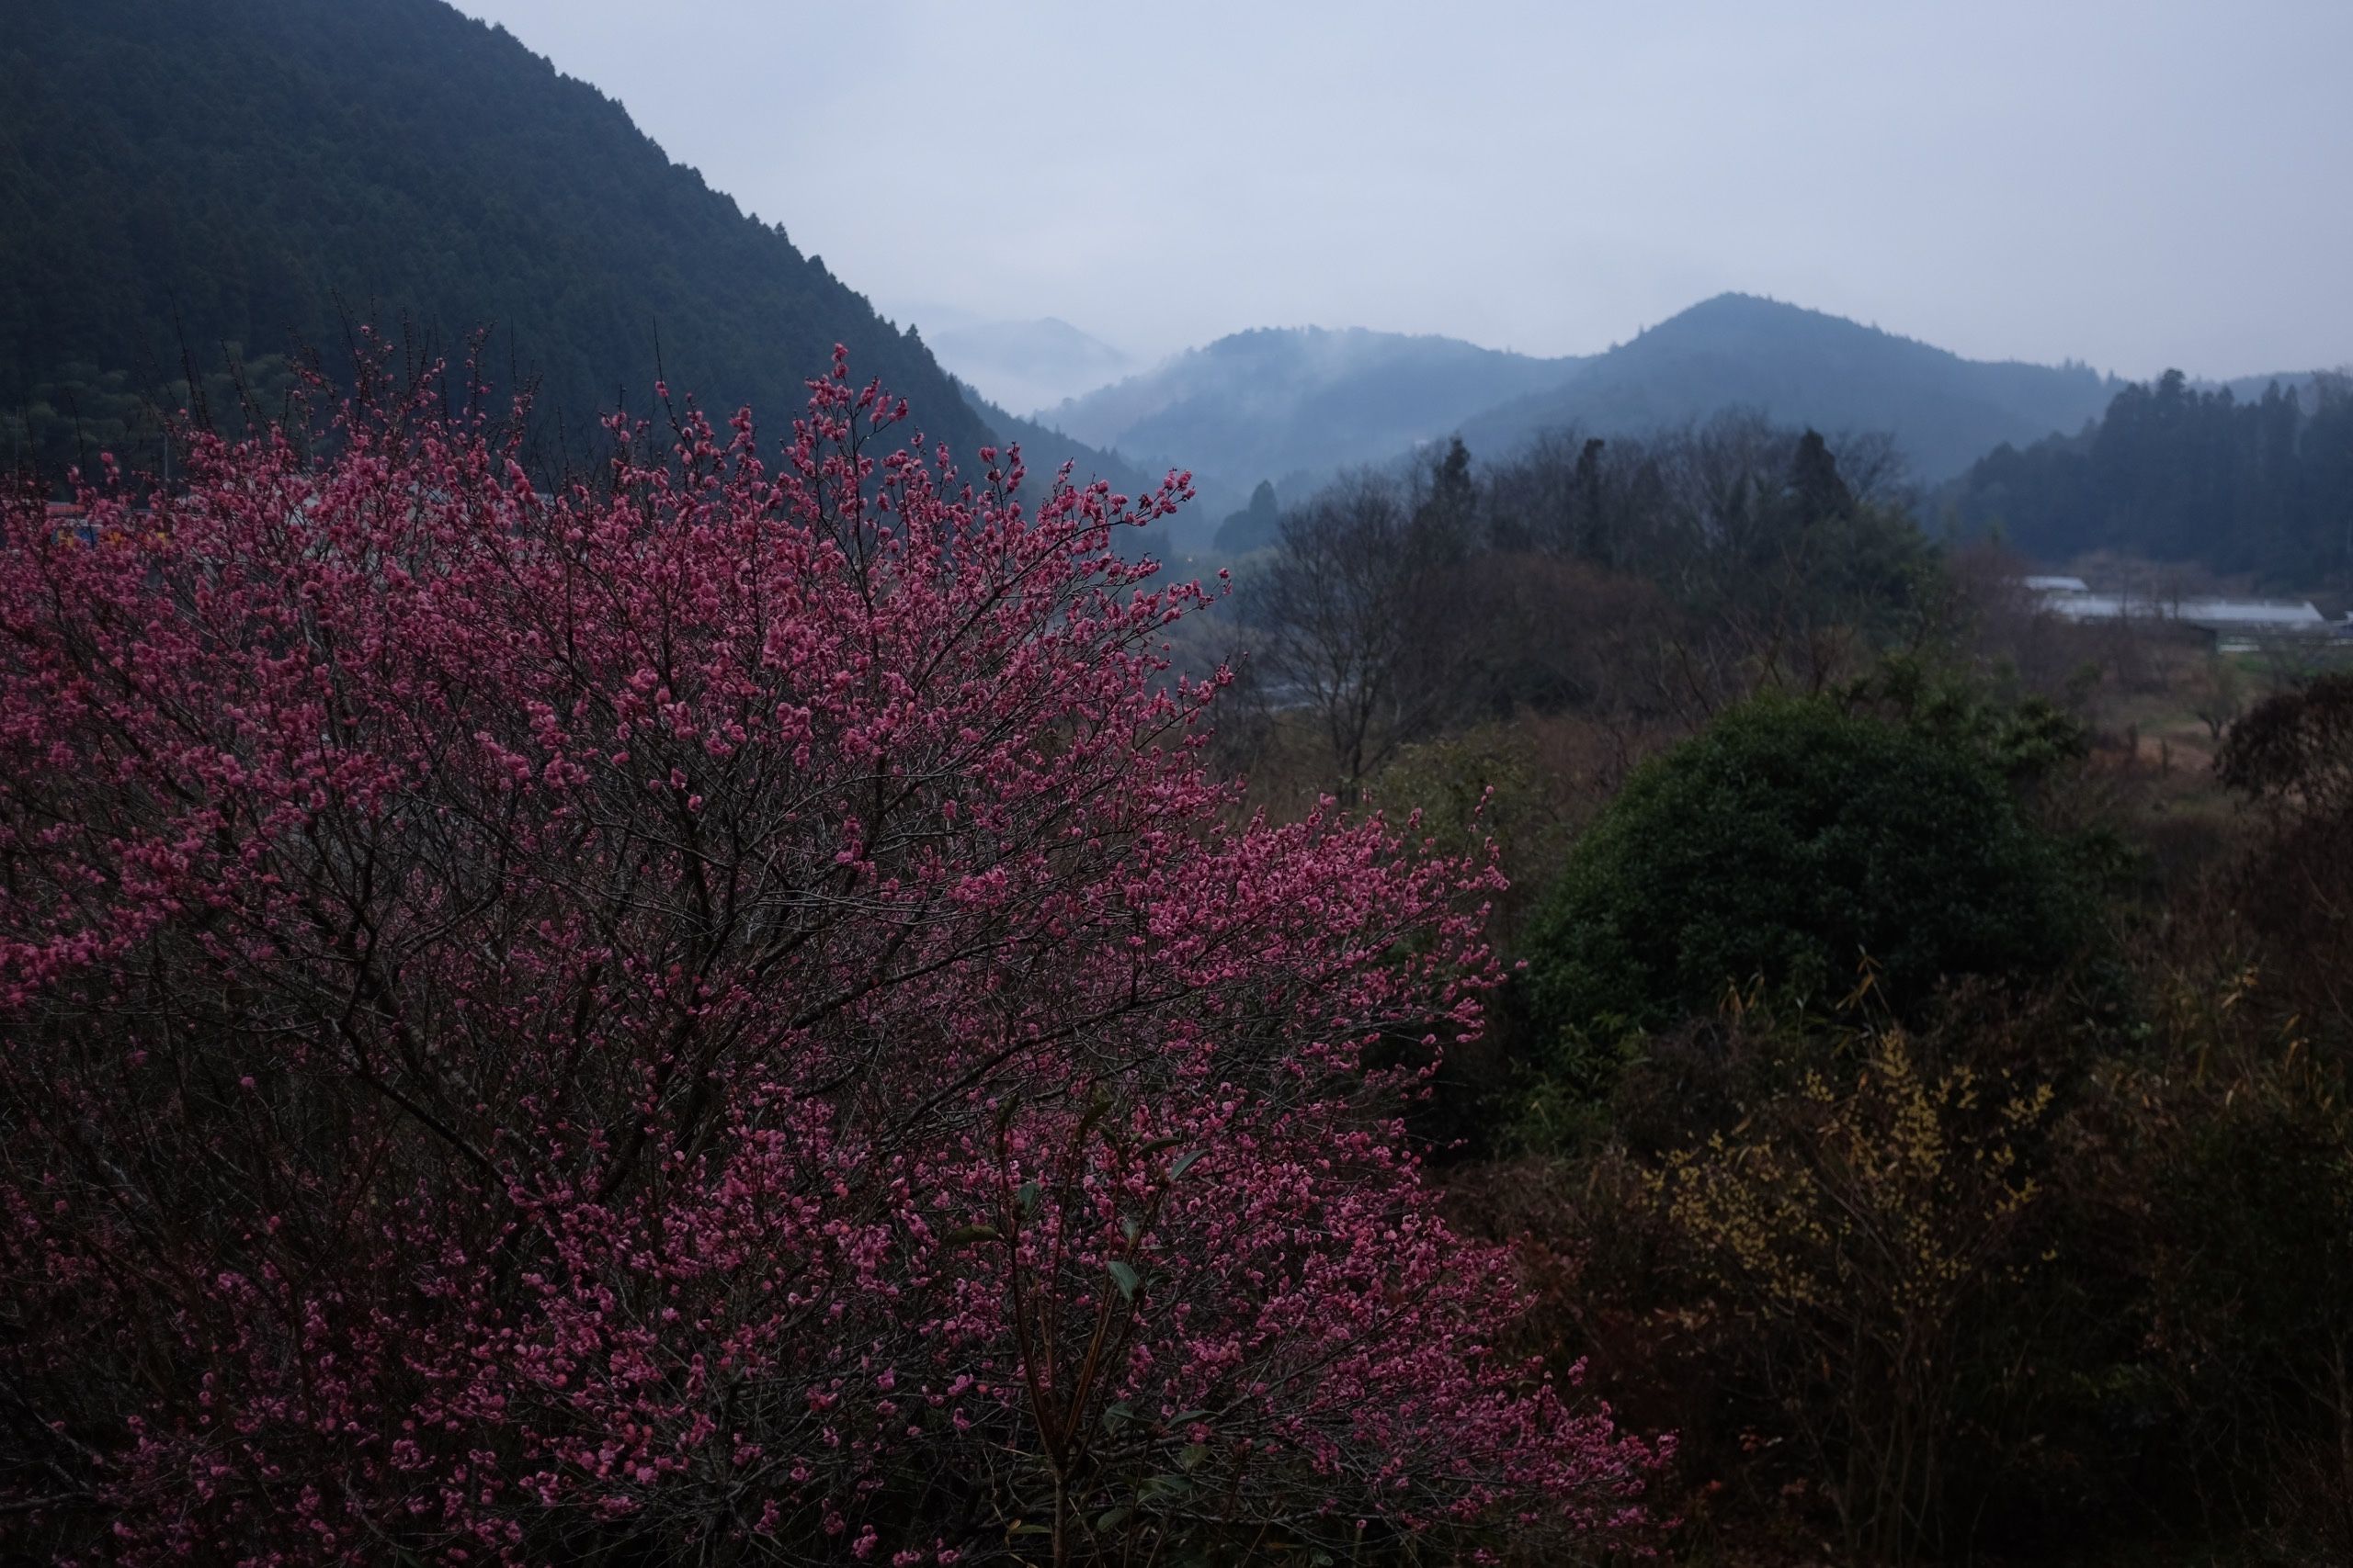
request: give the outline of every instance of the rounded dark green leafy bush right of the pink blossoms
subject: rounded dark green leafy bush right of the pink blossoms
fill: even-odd
[[[1569,851],[1527,936],[1548,1041],[1607,1044],[1762,980],[1835,1001],[1864,961],[1915,1009],[1946,976],[2075,950],[2059,846],[1967,743],[1760,698],[1652,759]]]

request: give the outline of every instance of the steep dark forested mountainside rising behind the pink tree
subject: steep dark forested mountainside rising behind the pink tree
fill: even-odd
[[[184,348],[353,322],[492,367],[586,428],[656,362],[772,430],[847,343],[932,440],[986,440],[925,346],[595,87],[440,0],[21,0],[0,35],[0,400],[49,461],[176,404]],[[21,411],[21,414],[19,414]]]

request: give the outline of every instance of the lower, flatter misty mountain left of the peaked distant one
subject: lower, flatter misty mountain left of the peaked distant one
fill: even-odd
[[[1129,458],[1202,475],[1212,510],[1259,480],[1304,494],[1353,463],[1384,463],[1506,397],[1555,386],[1577,360],[1459,339],[1322,327],[1240,331],[1073,397],[1038,421]]]

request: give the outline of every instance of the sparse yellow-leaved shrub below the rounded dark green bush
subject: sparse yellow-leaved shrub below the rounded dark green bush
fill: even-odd
[[[2031,1265],[2021,1143],[2052,1091],[1927,1070],[1901,1030],[1861,1046],[1852,1081],[1809,1070],[1798,1093],[1671,1154],[1654,1197],[1849,1549],[1901,1561],[1934,1547],[1955,1340]]]

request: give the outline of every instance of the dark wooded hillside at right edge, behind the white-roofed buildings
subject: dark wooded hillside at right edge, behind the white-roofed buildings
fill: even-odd
[[[2200,393],[2127,386],[2097,428],[1998,447],[1955,489],[1960,522],[2059,562],[2089,550],[2202,562],[2313,588],[2353,578],[2353,381]]]

